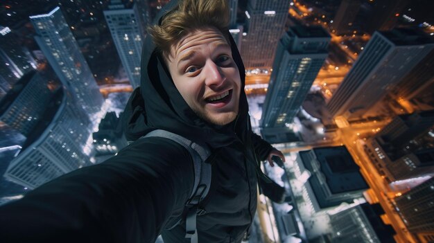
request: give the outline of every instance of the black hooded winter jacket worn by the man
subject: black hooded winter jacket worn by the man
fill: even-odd
[[[244,66],[232,39],[230,44],[243,88]],[[211,147],[211,189],[201,205],[206,213],[197,217],[198,239],[241,241],[257,207],[257,157],[265,160],[272,147],[252,133],[243,89],[233,123],[216,126],[196,116],[153,46],[146,38],[141,87],[125,108],[125,135],[134,143],[0,207],[0,242],[155,242],[159,234],[166,243],[183,242],[183,224],[165,228],[191,194],[193,161],[171,140],[140,138],[154,129]]]

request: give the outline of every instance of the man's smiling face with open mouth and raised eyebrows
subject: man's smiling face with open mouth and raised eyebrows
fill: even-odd
[[[172,46],[167,62],[175,87],[198,116],[216,125],[236,118],[241,78],[220,31],[191,31]]]

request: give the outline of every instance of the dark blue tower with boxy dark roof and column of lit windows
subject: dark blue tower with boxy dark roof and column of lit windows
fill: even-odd
[[[263,104],[263,136],[289,130],[328,55],[330,35],[321,26],[293,26],[280,39]],[[282,141],[284,142],[284,141]]]

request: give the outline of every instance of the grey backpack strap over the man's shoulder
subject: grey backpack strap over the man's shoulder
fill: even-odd
[[[184,211],[186,211],[186,238],[189,238],[192,243],[198,242],[198,231],[196,229],[196,215],[200,213],[198,211],[198,204],[204,199],[211,185],[211,164],[204,163],[209,155],[210,150],[203,146],[193,143],[187,138],[168,132],[166,130],[157,129],[144,137],[159,136],[163,138],[171,139],[186,148],[191,154],[194,164],[194,184],[193,190],[189,199],[186,201]],[[176,226],[177,224],[175,224]]]

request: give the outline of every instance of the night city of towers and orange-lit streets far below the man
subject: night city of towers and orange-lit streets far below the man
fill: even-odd
[[[0,205],[126,145],[144,26],[167,2],[0,3]],[[354,220],[361,241],[434,240],[434,3],[228,2],[252,126],[288,161],[264,165],[287,197],[259,197],[258,239],[351,242]]]

